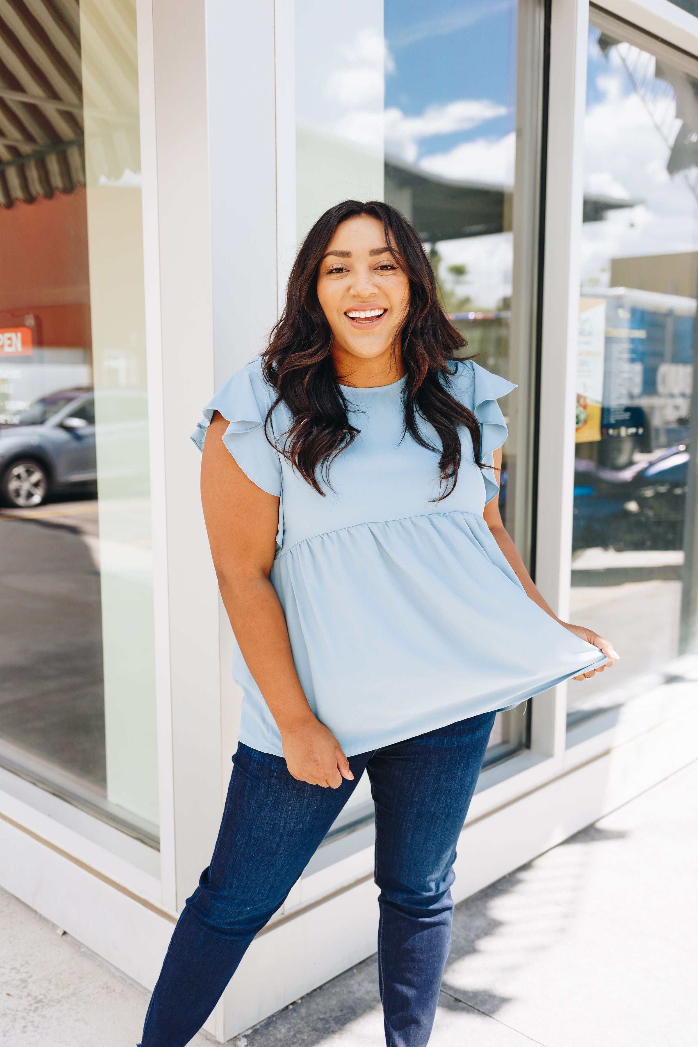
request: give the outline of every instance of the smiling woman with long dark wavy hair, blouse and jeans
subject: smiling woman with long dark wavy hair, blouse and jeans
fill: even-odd
[[[375,300],[368,326],[347,316]],[[495,714],[617,658],[556,618],[501,526],[497,398],[512,384],[456,358],[461,343],[414,229],[347,200],[303,241],[263,359],[204,408],[194,440],[240,744],[142,1047],[188,1043],[364,772],[386,1042],[426,1047]]]

